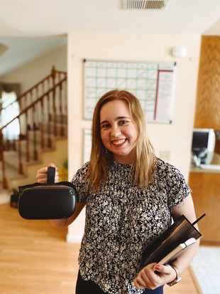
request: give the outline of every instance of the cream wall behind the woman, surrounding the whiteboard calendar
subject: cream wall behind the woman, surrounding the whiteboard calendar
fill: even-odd
[[[188,178],[190,145],[197,90],[201,36],[70,33],[68,36],[68,112],[69,177],[83,162],[83,60],[176,61],[175,101],[172,124],[148,124],[148,133],[158,155],[170,153],[169,162]],[[187,57],[174,58],[171,49],[187,48]],[[84,214],[68,230],[67,241],[79,241],[84,229]]]

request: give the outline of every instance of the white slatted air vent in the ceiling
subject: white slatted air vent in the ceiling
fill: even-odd
[[[123,9],[163,10],[170,0],[122,0]]]

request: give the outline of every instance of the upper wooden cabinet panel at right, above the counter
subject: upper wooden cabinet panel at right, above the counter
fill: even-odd
[[[202,36],[194,127],[220,130],[220,36]]]

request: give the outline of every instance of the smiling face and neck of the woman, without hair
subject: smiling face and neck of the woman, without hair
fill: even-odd
[[[101,140],[116,162],[131,164],[135,158],[138,131],[124,100],[104,104],[100,111]]]

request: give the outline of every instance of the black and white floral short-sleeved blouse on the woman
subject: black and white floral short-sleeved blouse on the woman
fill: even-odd
[[[89,194],[88,166],[89,162],[72,179],[80,201],[86,201],[79,251],[82,278],[97,283],[104,293],[143,293],[131,285],[141,270],[143,248],[170,226],[170,210],[191,190],[178,169],[158,159],[148,187],[139,189],[129,180],[131,165],[114,162],[106,184]]]

